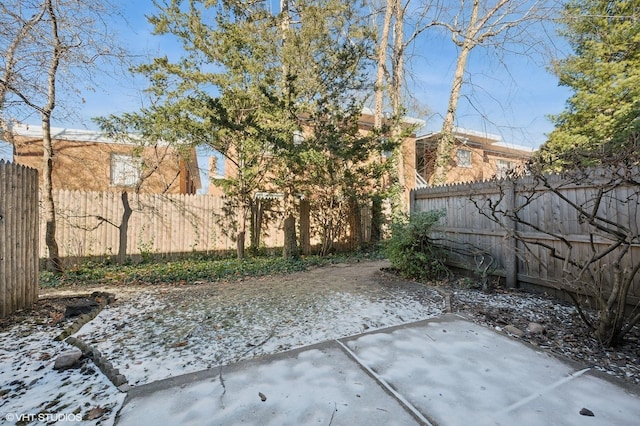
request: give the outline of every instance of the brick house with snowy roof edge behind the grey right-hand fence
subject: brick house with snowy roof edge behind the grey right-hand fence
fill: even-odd
[[[427,186],[435,166],[435,154],[441,134],[416,138],[416,187]],[[523,167],[535,150],[505,143],[500,136],[456,128],[456,141],[447,172],[447,183],[502,178],[509,170]]]

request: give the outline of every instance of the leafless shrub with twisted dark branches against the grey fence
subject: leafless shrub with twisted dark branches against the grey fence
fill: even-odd
[[[640,158],[633,148],[607,159],[570,157],[564,160],[574,166],[560,175],[545,174],[549,164],[542,160],[532,163],[531,176],[518,182],[515,198],[509,196],[513,183],[508,179],[497,183],[497,200],[472,200],[482,215],[515,238],[523,260],[561,275],[556,287],[571,297],[595,337],[615,346],[640,323],[639,306],[630,299],[640,270]],[[600,163],[597,168],[591,167],[594,160]],[[527,212],[541,205],[553,205],[562,214],[546,222],[534,220],[537,215]]]

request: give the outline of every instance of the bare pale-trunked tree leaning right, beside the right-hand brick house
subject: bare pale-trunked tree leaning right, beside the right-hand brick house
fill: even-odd
[[[434,25],[445,28],[458,47],[455,71],[449,92],[447,112],[438,142],[431,183],[446,182],[455,138],[453,129],[470,53],[478,47],[506,50],[517,46],[525,51],[536,43],[529,27],[548,20],[554,8],[548,0],[460,0],[457,9],[442,9],[442,20]]]

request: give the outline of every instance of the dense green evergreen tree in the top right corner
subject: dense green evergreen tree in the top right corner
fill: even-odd
[[[573,0],[563,13],[562,35],[574,53],[554,64],[573,96],[552,117],[556,128],[540,151],[561,167],[624,150],[640,136],[640,3],[637,0]]]

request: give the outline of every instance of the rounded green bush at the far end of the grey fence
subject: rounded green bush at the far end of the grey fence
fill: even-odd
[[[392,222],[385,255],[403,277],[433,280],[448,273],[444,264],[446,252],[435,245],[430,237],[434,225],[444,215],[444,210],[433,210]]]

